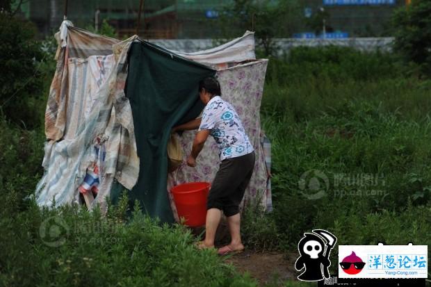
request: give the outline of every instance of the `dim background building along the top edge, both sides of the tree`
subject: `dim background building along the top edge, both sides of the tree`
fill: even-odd
[[[140,35],[152,39],[215,38],[220,33],[218,11],[232,1],[145,0]],[[405,5],[405,0],[298,0],[298,3],[301,6],[298,13],[303,11],[304,15],[297,33],[319,30],[320,20],[316,24],[313,17],[325,11],[321,15],[322,30],[324,20],[328,33],[339,31],[349,37],[364,37],[389,35],[391,14]],[[139,0],[69,0],[67,18],[83,28],[99,26],[107,19],[123,38],[136,32],[138,7]],[[23,15],[44,35],[58,29],[64,11],[65,0],[30,0],[22,4]],[[314,19],[314,28],[310,19]]]

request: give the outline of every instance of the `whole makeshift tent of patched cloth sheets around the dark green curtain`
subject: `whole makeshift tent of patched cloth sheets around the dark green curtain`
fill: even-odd
[[[250,33],[245,36],[250,42]],[[45,116],[48,142],[42,163],[45,173],[36,190],[38,204],[80,203],[79,192],[91,192],[97,196],[90,208],[105,206],[106,198],[117,196],[124,187],[131,190],[131,204],[138,199],[149,215],[172,222],[176,213],[170,208],[170,186],[198,178],[211,181],[215,172],[218,159],[211,140],[196,170],[180,167],[175,176],[168,176],[166,156],[172,126],[199,115],[203,105],[197,84],[214,75],[215,69],[184,58],[196,55],[183,57],[137,36],[120,42],[70,22],[63,22],[56,38],[58,64]],[[206,64],[221,67],[254,60],[254,38],[248,52],[239,49],[242,58],[232,53],[238,43],[244,44],[228,43],[217,51],[236,58],[230,64],[218,63],[214,56]],[[267,60],[257,60],[217,72],[223,97],[238,109],[257,150],[246,198],[258,197],[263,205],[268,197],[259,108],[266,64]],[[186,154],[192,137],[188,132],[180,138]],[[202,170],[205,177],[200,177]]]

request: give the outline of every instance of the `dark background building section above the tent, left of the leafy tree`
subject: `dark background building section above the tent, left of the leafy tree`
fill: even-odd
[[[145,38],[211,38],[217,11],[229,0],[145,0],[141,33]],[[75,26],[115,27],[120,37],[136,32],[139,0],[69,0],[67,18]],[[22,12],[46,35],[63,21],[65,0],[30,0]]]

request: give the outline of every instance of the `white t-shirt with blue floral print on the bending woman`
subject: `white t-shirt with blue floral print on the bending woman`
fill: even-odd
[[[234,107],[220,96],[213,97],[206,104],[199,130],[211,131],[220,149],[220,161],[254,151]]]

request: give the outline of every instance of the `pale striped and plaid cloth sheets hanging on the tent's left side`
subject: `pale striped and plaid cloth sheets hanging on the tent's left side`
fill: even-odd
[[[103,207],[114,179],[131,189],[139,174],[131,107],[124,95],[127,51],[136,36],[119,42],[71,26],[67,31],[66,47],[59,41],[45,113],[45,172],[36,202],[79,203],[79,187],[97,166],[98,195],[92,206]]]

